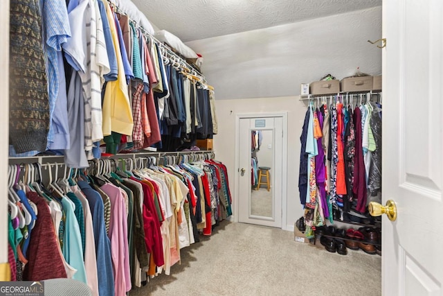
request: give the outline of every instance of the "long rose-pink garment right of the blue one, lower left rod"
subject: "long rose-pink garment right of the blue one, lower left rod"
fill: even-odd
[[[129,245],[127,241],[127,211],[125,198],[114,184],[107,183],[100,187],[111,201],[111,222],[109,240],[111,241],[112,265],[114,265],[114,286],[116,296],[125,296],[131,290],[129,272]]]

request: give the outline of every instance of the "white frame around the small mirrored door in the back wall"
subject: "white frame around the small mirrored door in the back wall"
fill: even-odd
[[[270,118],[281,117],[282,118],[282,227],[281,229],[287,229],[287,176],[288,176],[288,112],[265,112],[265,113],[237,113],[235,114],[235,182],[234,182],[234,222],[238,222],[239,218],[239,137],[240,137],[240,119],[253,119],[253,118]],[[277,213],[276,213],[277,214]]]

